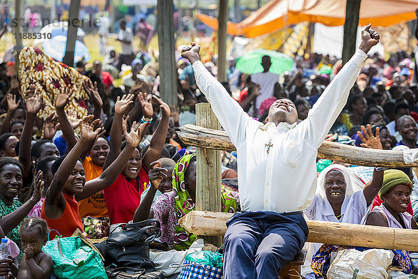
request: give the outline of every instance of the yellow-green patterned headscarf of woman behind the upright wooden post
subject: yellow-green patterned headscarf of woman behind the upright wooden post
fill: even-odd
[[[196,154],[185,155],[173,169],[173,191],[174,199],[176,200],[176,231],[174,232],[174,248],[176,250],[186,250],[196,240],[196,235],[189,234],[186,230],[178,224],[178,219],[185,216],[190,211],[196,210],[196,205],[190,198],[187,192],[185,183],[185,173],[187,167],[190,165],[190,160],[195,157]],[[224,212],[235,213],[237,209],[236,197],[237,193],[233,193],[231,188],[225,188],[222,186],[222,210]]]

